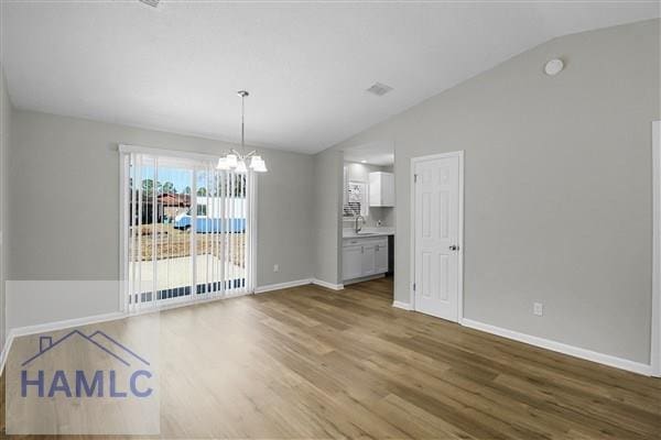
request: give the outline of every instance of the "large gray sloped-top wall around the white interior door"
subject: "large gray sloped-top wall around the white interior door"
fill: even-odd
[[[464,150],[465,316],[649,363],[659,50],[659,20],[555,38],[339,144],[395,143],[395,299],[410,160]]]

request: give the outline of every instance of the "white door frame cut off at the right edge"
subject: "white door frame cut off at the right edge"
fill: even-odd
[[[652,322],[650,366],[661,377],[661,121],[652,121]]]

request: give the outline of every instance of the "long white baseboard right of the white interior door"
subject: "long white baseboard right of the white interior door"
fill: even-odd
[[[540,346],[542,349],[556,351],[559,353],[568,354],[574,358],[581,358],[587,361],[597,362],[599,364],[614,366],[620,370],[627,370],[633,373],[643,374],[646,376],[652,375],[652,366],[642,364],[639,362],[629,361],[627,359],[616,358],[609,354],[598,353],[596,351],[581,349],[574,345],[567,345],[562,342],[552,341],[544,338],[533,337],[525,333],[519,333],[518,331],[503,329],[500,327],[491,326],[488,323],[474,321],[472,319],[463,318],[460,324],[469,327],[472,329],[485,331],[487,333],[496,334],[502,338],[512,339],[514,341],[524,342],[531,345]]]

